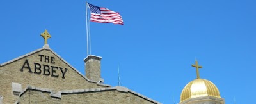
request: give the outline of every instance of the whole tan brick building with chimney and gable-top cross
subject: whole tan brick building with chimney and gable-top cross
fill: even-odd
[[[0,65],[1,103],[159,103],[123,86],[104,84],[100,56],[84,59],[81,74],[47,44]]]

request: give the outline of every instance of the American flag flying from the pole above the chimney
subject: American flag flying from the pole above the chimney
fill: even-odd
[[[88,6],[91,11],[91,21],[92,22],[100,22],[100,23],[115,23],[124,25],[122,16],[119,15],[118,12],[111,11],[108,8],[102,8],[98,6],[93,6],[88,3]]]

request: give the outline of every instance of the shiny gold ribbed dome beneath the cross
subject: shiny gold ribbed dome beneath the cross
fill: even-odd
[[[180,102],[189,98],[198,98],[202,96],[221,98],[218,88],[211,81],[199,78],[189,82],[185,86],[180,95]]]

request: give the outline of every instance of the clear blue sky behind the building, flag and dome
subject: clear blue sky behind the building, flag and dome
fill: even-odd
[[[124,25],[90,22],[92,54],[102,56],[106,84],[161,103],[180,101],[196,78],[214,82],[226,103],[252,103],[256,93],[256,1],[88,1],[120,12]],[[84,74],[85,1],[0,1],[0,63],[42,48],[40,33]]]

